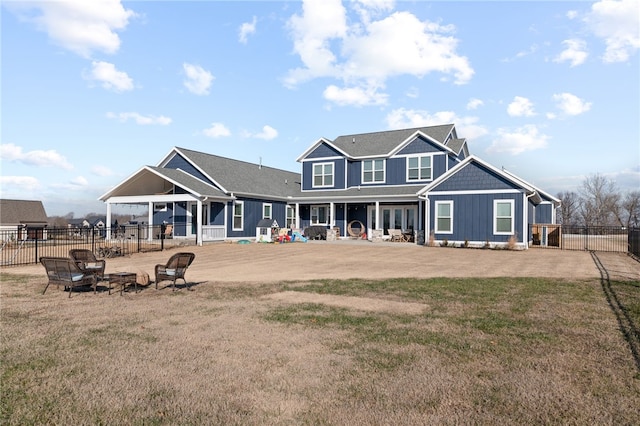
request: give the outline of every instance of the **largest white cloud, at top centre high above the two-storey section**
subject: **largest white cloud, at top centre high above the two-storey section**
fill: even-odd
[[[358,20],[347,18],[347,10],[339,0],[305,1],[302,14],[293,15],[288,22],[294,52],[303,67],[290,70],[285,85],[295,87],[314,78],[335,78],[342,80],[344,87],[331,85],[325,97],[330,95],[328,99],[344,103],[359,91],[355,104],[361,105],[363,94],[375,93],[388,78],[397,75],[420,78],[439,72],[455,84],[467,83],[474,71],[467,58],[456,52],[458,40],[452,36],[455,28],[420,21],[408,12],[387,15],[393,4],[349,3],[358,13]],[[387,16],[372,19],[382,14]],[[380,102],[379,96],[369,99],[366,104]]]

